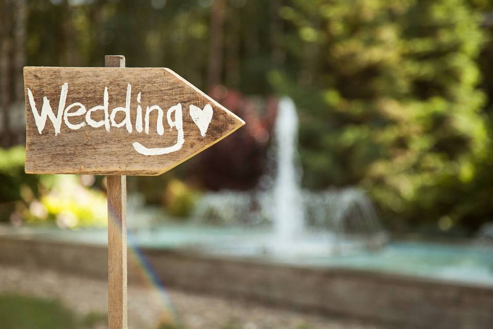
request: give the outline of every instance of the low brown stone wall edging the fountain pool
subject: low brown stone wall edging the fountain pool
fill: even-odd
[[[301,268],[259,261],[143,249],[164,286],[246,298],[392,328],[493,327],[493,288],[349,269]],[[143,272],[129,250],[129,283]],[[0,263],[51,268],[106,280],[107,249],[0,236]]]

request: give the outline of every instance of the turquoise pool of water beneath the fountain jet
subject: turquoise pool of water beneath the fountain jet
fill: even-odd
[[[73,243],[107,244],[105,229],[0,229],[0,235],[22,235]],[[133,248],[192,250],[194,252],[319,268],[351,268],[493,287],[493,246],[478,243],[444,244],[391,241],[365,248],[358,241],[337,241],[333,236],[301,236],[294,249],[270,252],[275,241],[270,232],[239,227],[167,225],[128,232]],[[335,247],[334,247],[335,246]],[[291,252],[302,250],[302,253]]]

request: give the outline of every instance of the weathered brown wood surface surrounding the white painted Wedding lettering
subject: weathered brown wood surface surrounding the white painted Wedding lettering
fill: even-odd
[[[108,59],[108,64],[121,59]],[[34,174],[102,174],[102,175],[158,175],[210,147],[234,132],[244,122],[219,103],[200,92],[196,87],[167,68],[121,67],[25,67],[24,89],[26,97],[26,173]],[[61,130],[55,136],[52,122],[47,119],[40,134],[28,100],[31,90],[38,112],[43,97],[47,97],[58,113],[61,87],[68,83],[66,106],[82,103],[86,109],[103,105],[104,88],[108,88],[108,109],[125,106],[127,84],[131,84],[130,121],[132,132],[123,127],[89,125],[71,130],[62,120]],[[146,106],[159,105],[164,111],[164,134],[156,131],[157,114],[149,116],[149,134],[136,130],[137,94],[141,92],[142,111]],[[183,111],[184,144],[179,151],[163,155],[142,155],[132,147],[139,142],[147,148],[165,148],[177,141],[176,129],[170,130],[166,121],[169,107],[180,103]],[[189,114],[189,105],[204,108],[210,104],[213,117],[207,133],[201,136],[198,126]],[[74,108],[73,111],[75,111]],[[93,119],[104,117],[103,111],[94,112]],[[116,121],[123,119],[119,113]],[[85,116],[74,116],[69,122],[77,124]]]

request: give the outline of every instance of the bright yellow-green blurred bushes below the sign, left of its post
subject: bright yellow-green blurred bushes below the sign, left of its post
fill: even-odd
[[[2,220],[15,225],[46,223],[63,228],[106,225],[106,196],[84,186],[87,176],[28,175],[24,158],[23,147],[0,149]]]

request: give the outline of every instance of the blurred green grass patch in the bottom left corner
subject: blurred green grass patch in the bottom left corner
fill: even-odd
[[[2,329],[90,329],[106,321],[106,314],[78,316],[58,300],[0,295]]]

